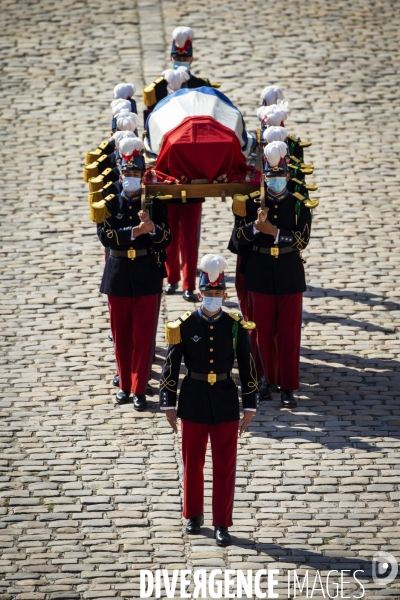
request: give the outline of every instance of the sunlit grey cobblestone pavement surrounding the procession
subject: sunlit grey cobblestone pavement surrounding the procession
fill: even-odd
[[[365,598],[400,598],[398,584],[371,579],[377,550],[400,557],[396,8],[1,2],[0,600],[133,599],[140,569],[266,565],[280,569],[280,597],[297,568],[311,580],[364,569]],[[305,252],[299,407],[263,403],[240,440],[225,550],[209,503],[205,535],[184,534],[179,440],[156,398],[141,414],[113,404],[102,251],[81,180],[84,151],[107,137],[113,86],[158,76],[181,18],[196,31],[194,72],[222,83],[250,129],[260,90],[282,85],[289,131],[313,142],[321,202]],[[228,258],[235,307],[230,204],[207,200],[201,251]],[[162,317],[187,309],[164,299]],[[164,354],[160,321],[155,387]]]

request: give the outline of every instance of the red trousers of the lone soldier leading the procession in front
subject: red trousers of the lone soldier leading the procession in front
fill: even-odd
[[[205,425],[181,420],[183,460],[183,516],[193,519],[204,513],[204,463],[208,436],[213,465],[213,525],[232,525],[235,493],[238,421]]]

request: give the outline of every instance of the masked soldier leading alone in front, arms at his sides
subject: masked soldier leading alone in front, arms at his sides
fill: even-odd
[[[177,433],[181,419],[184,466],[183,516],[189,519],[186,531],[197,534],[204,523],[204,462],[208,437],[213,462],[212,512],[214,537],[218,546],[232,543],[236,449],[239,399],[231,371],[237,357],[242,387],[244,417],[240,434],[250,423],[258,403],[257,376],[248,329],[255,327],[237,313],[226,313],[222,256],[208,254],[201,261],[201,307],[167,323],[170,343],[160,383],[160,407]],[[182,357],[187,375],[182,381],[176,411],[177,387]]]

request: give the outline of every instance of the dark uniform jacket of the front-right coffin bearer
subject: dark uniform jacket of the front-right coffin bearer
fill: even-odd
[[[240,265],[246,290],[261,294],[298,294],[305,292],[306,280],[301,250],[307,246],[311,231],[311,212],[287,190],[278,196],[265,194],[268,221],[280,229],[279,243],[272,235],[253,232],[260,202],[246,201],[246,217],[235,217],[235,242],[246,246]],[[259,252],[259,248],[295,248],[278,257]],[[240,253],[241,254],[241,253]]]

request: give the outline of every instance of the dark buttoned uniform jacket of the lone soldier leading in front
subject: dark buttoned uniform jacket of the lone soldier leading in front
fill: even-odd
[[[183,321],[180,326],[181,341],[169,345],[161,374],[161,407],[176,407],[182,357],[189,372],[222,374],[232,370],[234,323],[234,319],[222,310],[214,317],[208,317],[201,309]],[[257,373],[248,331],[239,323],[237,362],[243,408],[256,408]],[[238,421],[239,399],[233,379],[229,377],[211,385],[186,375],[179,394],[178,417],[208,424]]]

